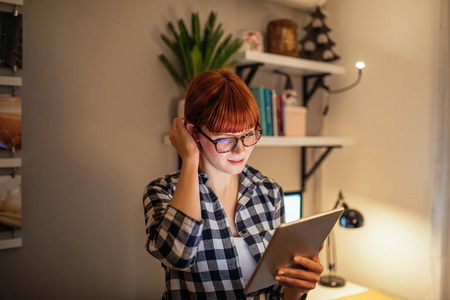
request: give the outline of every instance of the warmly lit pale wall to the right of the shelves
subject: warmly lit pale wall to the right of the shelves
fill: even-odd
[[[323,205],[343,190],[366,218],[362,229],[337,230],[339,273],[398,298],[432,299],[439,1],[341,0],[327,8],[340,63],[349,72],[357,60],[367,65],[357,88],[331,97],[324,125],[324,135],[352,136],[357,145],[324,164]],[[332,87],[350,81],[336,78]]]

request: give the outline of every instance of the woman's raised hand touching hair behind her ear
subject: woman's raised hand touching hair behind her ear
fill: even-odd
[[[200,158],[200,150],[190,133],[192,130],[194,130],[194,125],[186,119],[175,118],[173,120],[172,132],[169,135],[169,139],[183,160],[189,158],[199,160]]]

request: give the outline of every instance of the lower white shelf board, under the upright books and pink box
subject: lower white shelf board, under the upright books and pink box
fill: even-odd
[[[171,145],[169,136],[163,138],[165,145]],[[262,136],[256,147],[342,147],[355,145],[352,138],[342,137],[288,137],[288,136]]]

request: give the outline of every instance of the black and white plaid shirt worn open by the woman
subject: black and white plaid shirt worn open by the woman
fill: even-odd
[[[199,174],[202,222],[170,206],[180,171],[152,181],[144,192],[147,250],[165,270],[163,299],[280,299],[274,285],[248,295],[225,211]],[[246,166],[241,173],[235,222],[255,261],[275,227],[284,222],[283,192],[272,179]]]

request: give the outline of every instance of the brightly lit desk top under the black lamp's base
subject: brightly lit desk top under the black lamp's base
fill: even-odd
[[[329,288],[317,284],[316,288],[308,293],[307,300],[393,300],[375,290],[355,283],[346,282],[344,287]]]

